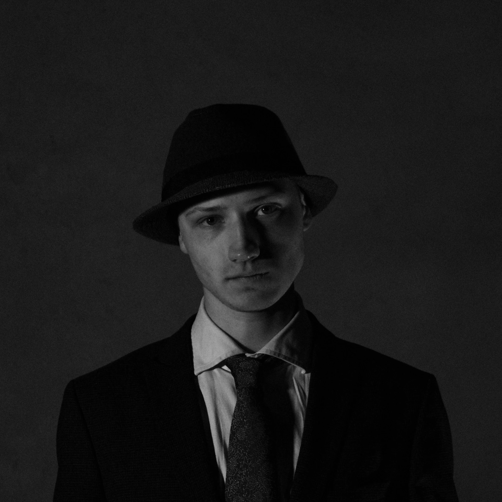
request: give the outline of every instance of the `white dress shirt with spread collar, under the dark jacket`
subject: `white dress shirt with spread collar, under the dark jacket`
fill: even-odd
[[[264,363],[260,383],[274,423],[281,500],[289,499],[300,452],[312,357],[311,323],[300,296],[296,296],[298,311],[293,319],[261,350],[245,354],[273,356]],[[194,372],[204,397],[216,462],[224,480],[237,394],[233,376],[223,361],[245,350],[210,319],[204,298],[192,325],[191,337]]]

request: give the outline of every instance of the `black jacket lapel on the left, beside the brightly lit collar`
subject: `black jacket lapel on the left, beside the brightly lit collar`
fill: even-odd
[[[219,500],[216,462],[208,448],[193,372],[190,330],[195,316],[160,345],[144,372],[161,447],[187,498]],[[217,468],[216,468],[217,469]]]

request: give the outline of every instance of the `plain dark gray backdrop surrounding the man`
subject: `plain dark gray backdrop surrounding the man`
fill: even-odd
[[[339,184],[296,285],[337,336],[434,373],[462,501],[499,500],[497,2],[3,2],[0,499],[50,500],[71,379],[201,288],[133,219],[175,128],[267,106]]]

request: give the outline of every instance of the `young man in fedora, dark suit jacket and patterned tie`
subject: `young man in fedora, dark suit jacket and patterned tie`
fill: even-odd
[[[434,376],[335,337],[294,290],[335,191],[269,110],[188,115],[134,228],[189,256],[198,313],[68,384],[56,502],[457,500]]]

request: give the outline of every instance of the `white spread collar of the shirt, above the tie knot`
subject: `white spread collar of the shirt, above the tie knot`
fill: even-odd
[[[296,293],[296,296],[298,312],[265,347],[255,354],[274,356],[309,372],[312,352],[312,327],[300,295]],[[192,325],[191,337],[193,366],[196,375],[214,368],[227,357],[244,353],[242,347],[207,315],[203,297]]]

